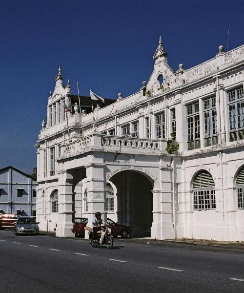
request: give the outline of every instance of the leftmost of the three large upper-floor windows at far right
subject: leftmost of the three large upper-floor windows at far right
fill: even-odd
[[[187,105],[187,149],[200,148],[200,115],[199,103]]]

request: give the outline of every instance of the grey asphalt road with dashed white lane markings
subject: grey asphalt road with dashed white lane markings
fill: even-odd
[[[0,293],[244,292],[244,251],[117,238],[114,249],[79,238],[0,231]]]

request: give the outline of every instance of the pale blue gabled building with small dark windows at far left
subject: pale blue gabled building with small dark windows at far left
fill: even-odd
[[[15,167],[0,169],[0,213],[18,213],[36,216],[35,175],[26,174]]]

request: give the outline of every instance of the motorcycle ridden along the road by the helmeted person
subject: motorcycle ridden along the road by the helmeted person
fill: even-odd
[[[113,236],[111,234],[111,229],[106,226],[101,227],[102,230],[97,232],[97,239],[94,239],[93,229],[90,227],[85,227],[84,230],[88,231],[90,244],[93,248],[98,247],[99,245],[105,245],[107,249],[112,249],[114,245]]]

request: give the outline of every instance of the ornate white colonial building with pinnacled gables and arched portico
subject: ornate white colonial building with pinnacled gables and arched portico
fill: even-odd
[[[175,72],[160,38],[153,59],[139,92],[94,112],[59,70],[36,145],[42,230],[72,236],[101,211],[156,239],[244,241],[244,45]]]

